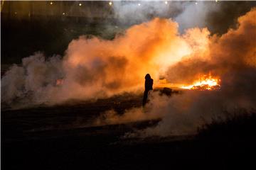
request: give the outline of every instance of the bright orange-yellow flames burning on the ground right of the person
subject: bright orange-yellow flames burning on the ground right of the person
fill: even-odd
[[[220,89],[220,79],[209,75],[203,75],[198,81],[193,82],[191,85],[181,86],[181,89],[192,90],[218,90]]]

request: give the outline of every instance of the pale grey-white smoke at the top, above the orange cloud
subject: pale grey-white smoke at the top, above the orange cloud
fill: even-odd
[[[121,23],[141,23],[154,17],[174,18],[179,31],[208,26],[210,13],[220,10],[213,1],[114,1],[114,16]]]

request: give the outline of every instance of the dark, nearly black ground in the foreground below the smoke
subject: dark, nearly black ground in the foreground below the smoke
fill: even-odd
[[[215,123],[200,135],[123,138],[159,120],[86,127],[110,108],[139,107],[142,96],[73,101],[1,111],[2,169],[250,169],[256,116]]]

